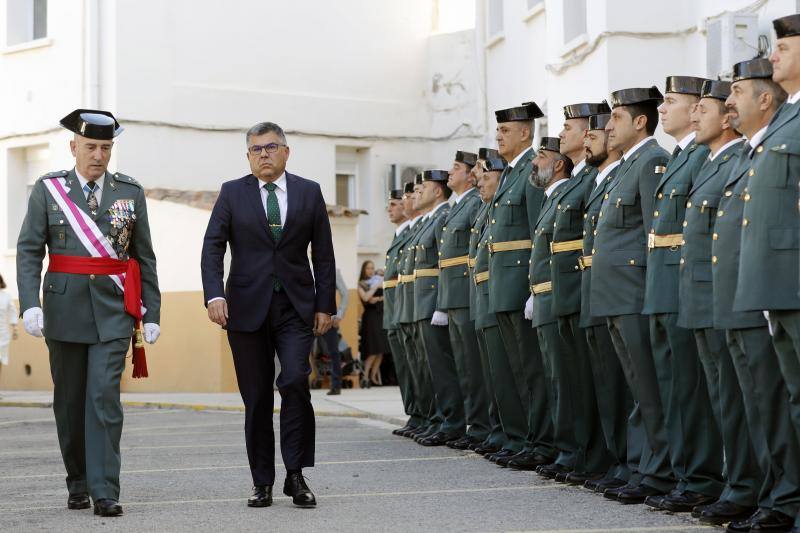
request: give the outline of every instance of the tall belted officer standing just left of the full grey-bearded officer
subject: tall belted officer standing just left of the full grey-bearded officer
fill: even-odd
[[[544,191],[528,180],[534,157],[534,120],[542,116],[534,102],[495,111],[498,152],[508,166],[500,176],[488,221],[489,310],[497,317],[528,419],[525,448],[514,457],[499,458],[497,464],[525,468],[551,464],[557,455],[542,355],[524,316],[530,294],[532,231],[544,198]]]

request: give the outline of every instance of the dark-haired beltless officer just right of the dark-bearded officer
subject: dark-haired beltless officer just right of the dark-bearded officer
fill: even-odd
[[[597,214],[590,269],[591,314],[606,317],[636,402],[629,428],[636,430],[642,424],[646,434],[636,475],[626,485],[604,492],[607,498],[622,503],[643,503],[648,496],[666,494],[675,485],[649,326],[641,314],[647,265],[645,228],[651,225],[653,191],[668,159],[653,137],[662,100],[656,87],[611,93],[608,144],[623,157]]]

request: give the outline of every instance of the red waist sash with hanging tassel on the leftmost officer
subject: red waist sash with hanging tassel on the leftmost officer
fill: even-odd
[[[111,276],[125,274],[124,299],[125,312],[136,321],[134,335],[131,338],[133,347],[133,377],[147,377],[147,360],[144,354],[142,338],[142,273],[136,259],[123,261],[110,257],[78,257],[71,255],[50,254],[48,272],[63,274],[95,274]]]

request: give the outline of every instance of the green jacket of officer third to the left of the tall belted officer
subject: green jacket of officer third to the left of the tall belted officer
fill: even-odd
[[[439,268],[439,241],[442,238],[442,228],[450,206],[441,204],[435,213],[425,221],[422,229],[414,239],[416,252],[414,254],[414,272],[420,269]],[[429,319],[434,311],[443,311],[437,307],[439,300],[439,276],[418,277],[414,281],[414,322]]]

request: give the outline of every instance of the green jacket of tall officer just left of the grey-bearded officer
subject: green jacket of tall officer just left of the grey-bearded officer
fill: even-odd
[[[544,191],[530,184],[534,151],[529,148],[497,189],[489,210],[492,243],[533,239]],[[489,257],[490,311],[522,312],[528,299],[530,248],[493,253]]]

